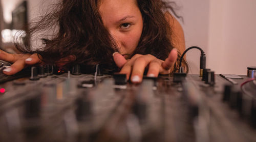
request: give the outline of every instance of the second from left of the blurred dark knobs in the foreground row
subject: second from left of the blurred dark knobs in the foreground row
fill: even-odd
[[[76,100],[76,119],[83,121],[90,118],[92,114],[92,102],[89,98],[80,97]]]

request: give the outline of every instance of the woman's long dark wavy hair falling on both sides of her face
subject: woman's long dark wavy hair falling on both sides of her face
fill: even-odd
[[[103,25],[98,3],[98,0],[59,0],[39,20],[29,24],[22,42],[20,37],[23,36],[16,36],[17,49],[22,53],[38,53],[46,64],[57,64],[73,55],[75,60],[66,61],[66,66],[100,64],[104,72],[117,71],[112,54],[118,48]],[[143,18],[143,31],[133,54],[152,54],[165,60],[174,47],[172,28],[163,11],[174,11],[172,3],[161,0],[137,0],[137,3]],[[36,44],[38,41],[41,46]],[[173,72],[177,70],[180,56],[179,53]],[[187,64],[184,62],[184,65]]]

